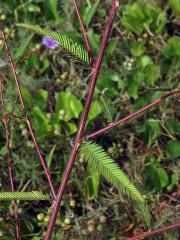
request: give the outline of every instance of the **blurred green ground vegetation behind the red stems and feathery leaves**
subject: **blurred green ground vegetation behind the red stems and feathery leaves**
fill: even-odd
[[[95,56],[110,3],[79,1]],[[122,1],[98,78],[87,133],[143,107],[164,90],[180,86],[179,18],[179,0]],[[0,2],[0,19],[7,34],[14,23],[39,24],[84,44],[71,0],[4,0]],[[69,60],[59,48],[47,49],[41,37],[21,28],[13,28],[9,44],[27,110],[58,188],[77,131],[91,69]],[[0,39],[7,111],[23,115],[2,47]],[[179,119],[176,96],[96,139],[144,194],[156,228],[180,220]],[[10,191],[2,123],[0,131],[0,190]],[[23,117],[12,116],[10,133],[16,189],[49,192]],[[50,205],[24,201],[18,206],[22,239],[42,239]],[[145,229],[132,202],[87,167],[82,154],[76,159],[58,226],[64,228],[67,239],[119,240]],[[12,204],[2,202],[0,238],[11,239],[14,228]],[[178,239],[178,232],[170,231],[158,239]]]

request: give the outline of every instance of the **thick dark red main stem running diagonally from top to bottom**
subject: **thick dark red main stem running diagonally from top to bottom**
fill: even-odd
[[[87,96],[87,99],[86,99],[84,111],[83,111],[82,116],[81,116],[81,120],[80,120],[80,124],[79,124],[79,128],[78,128],[78,132],[77,132],[77,135],[76,135],[75,143],[74,143],[72,152],[70,154],[70,158],[69,158],[69,161],[67,163],[67,167],[64,171],[62,183],[61,183],[59,191],[57,193],[57,198],[55,199],[55,202],[54,202],[54,207],[52,209],[52,214],[51,214],[50,221],[49,221],[49,224],[48,224],[48,227],[47,227],[45,240],[50,240],[51,237],[52,237],[53,227],[54,227],[55,222],[56,222],[56,218],[57,218],[58,211],[60,209],[61,201],[62,201],[64,192],[65,192],[65,189],[66,189],[66,186],[67,186],[72,168],[74,166],[74,162],[75,162],[77,152],[78,152],[78,148],[79,148],[79,145],[80,145],[80,140],[82,138],[82,135],[84,134],[84,129],[85,129],[89,109],[90,109],[90,106],[91,106],[96,81],[97,81],[97,78],[98,78],[98,74],[99,74],[99,70],[100,70],[100,67],[101,67],[102,59],[103,59],[103,56],[104,56],[104,53],[105,53],[105,49],[106,49],[106,46],[107,46],[107,43],[108,43],[108,39],[109,39],[110,32],[111,32],[111,29],[112,29],[112,24],[113,24],[114,17],[115,17],[118,6],[119,6],[119,1],[117,1],[117,0],[113,1],[112,9],[111,9],[110,15],[109,15],[109,20],[108,20],[108,23],[106,25],[106,29],[105,29],[103,39],[102,39],[102,42],[101,42],[97,62],[95,64],[93,75],[92,75],[92,78],[91,78],[91,81],[90,81],[89,92],[88,92],[88,96]]]

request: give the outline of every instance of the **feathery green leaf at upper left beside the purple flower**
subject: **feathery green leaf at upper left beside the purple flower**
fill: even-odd
[[[67,51],[71,56],[82,62],[88,64],[90,63],[88,52],[79,43],[74,42],[71,38],[63,34],[58,34],[47,29],[41,28],[38,25],[30,25],[25,23],[18,23],[16,25],[18,27],[26,28],[36,34],[47,36],[50,39],[57,41],[60,44],[60,46],[65,51]]]

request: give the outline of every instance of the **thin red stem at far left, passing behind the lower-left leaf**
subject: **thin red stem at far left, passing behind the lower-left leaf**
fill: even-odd
[[[6,107],[5,107],[5,100],[4,100],[4,94],[3,94],[3,79],[2,79],[1,72],[0,72],[0,96],[1,96],[2,113],[3,115],[5,115]],[[14,178],[12,174],[11,149],[9,144],[9,128],[8,128],[8,121],[6,118],[3,119],[3,123],[5,127],[5,135],[6,135],[7,161],[8,161],[8,171],[9,171],[9,178],[10,178],[10,184],[11,184],[11,191],[15,192]],[[20,230],[19,230],[18,209],[15,201],[13,201],[13,207],[14,207],[14,217],[16,221],[16,239],[20,240],[21,236],[20,236]]]

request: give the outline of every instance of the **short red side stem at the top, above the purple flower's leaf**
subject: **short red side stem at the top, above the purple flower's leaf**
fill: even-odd
[[[77,17],[79,19],[79,23],[80,23],[80,26],[81,26],[81,30],[82,30],[85,42],[86,42],[86,47],[87,47],[87,51],[88,51],[88,54],[89,54],[89,58],[91,59],[91,66],[93,67],[93,65],[94,65],[93,52],[92,52],[92,49],[91,49],[91,46],[90,46],[90,43],[89,43],[89,39],[88,39],[87,34],[86,34],[86,29],[84,27],[82,17],[81,17],[80,12],[79,12],[77,1],[73,0],[73,4],[74,4],[74,8],[76,10]]]

